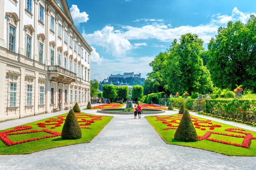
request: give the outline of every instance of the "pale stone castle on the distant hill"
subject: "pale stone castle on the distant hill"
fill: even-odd
[[[120,73],[117,75],[110,75],[107,79],[104,79],[103,82],[107,83],[108,82],[117,82],[122,84],[123,81],[126,81],[127,78],[133,78],[133,81],[135,80],[141,80],[144,82],[145,78],[141,77],[141,73],[139,74],[134,74],[134,72],[131,73],[124,73],[123,75],[121,75]]]

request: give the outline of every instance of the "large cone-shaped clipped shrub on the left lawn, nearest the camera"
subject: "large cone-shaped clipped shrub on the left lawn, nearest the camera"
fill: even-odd
[[[71,109],[66,117],[65,123],[62,128],[62,139],[80,139],[82,131],[78,124],[74,110]]]

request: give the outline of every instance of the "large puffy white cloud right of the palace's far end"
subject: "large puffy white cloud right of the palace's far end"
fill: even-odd
[[[121,37],[119,32],[114,32],[114,27],[105,26],[93,34],[82,33],[82,36],[89,44],[103,46],[107,52],[115,56],[125,54],[126,51],[132,49],[131,43],[126,38]]]

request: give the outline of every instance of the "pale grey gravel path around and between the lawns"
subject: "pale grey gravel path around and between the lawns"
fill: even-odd
[[[96,110],[86,112],[103,115]],[[166,111],[161,115],[176,113]],[[0,155],[0,169],[255,169],[256,157],[226,156],[166,144],[144,118],[146,114],[142,119],[133,119],[133,115],[114,116],[90,143],[26,155]]]

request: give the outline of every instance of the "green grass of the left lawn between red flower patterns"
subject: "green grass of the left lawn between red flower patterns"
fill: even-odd
[[[68,113],[63,114],[63,115],[67,115],[67,114]],[[82,113],[82,114],[85,114],[85,113]],[[91,114],[87,114],[87,115],[91,115]],[[59,116],[61,116],[61,115],[59,115]],[[94,116],[97,116],[97,115],[94,115]],[[85,117],[85,116],[83,116],[83,117]],[[58,116],[55,116],[52,118],[58,118]],[[46,138],[46,139],[31,141],[31,142],[27,142],[27,143],[21,143],[21,144],[12,145],[12,146],[6,146],[6,144],[4,144],[4,142],[2,140],[0,140],[0,154],[28,154],[28,153],[36,152],[39,150],[44,150],[44,149],[49,149],[49,148],[54,148],[54,147],[59,147],[59,146],[66,146],[66,145],[71,145],[71,144],[90,142],[111,121],[112,118],[113,118],[113,116],[108,116],[108,117],[103,116],[102,120],[94,121],[94,123],[92,123],[89,126],[83,126],[83,127],[91,127],[91,129],[81,128],[82,138],[76,139],[76,140],[64,140],[64,139],[61,139],[61,136],[56,136],[56,137],[50,137],[50,138]],[[84,118],[84,119],[90,120],[91,118]],[[45,129],[45,128],[38,127],[37,123],[40,123],[40,122],[44,123],[46,120],[49,120],[49,118],[43,119],[40,121],[36,121],[36,122],[32,122],[32,123],[28,123],[28,124],[24,124],[22,126],[32,126],[33,127],[32,129],[28,129],[28,130]],[[78,119],[78,120],[81,120],[81,119]],[[65,122],[65,121],[63,121],[63,122]],[[56,123],[56,122],[51,122],[51,123]],[[85,124],[85,122],[81,122],[79,124]],[[51,127],[53,127],[55,125],[49,125],[49,126],[46,126],[46,128],[49,130],[52,130],[52,131],[61,132],[63,125],[64,125],[64,123],[61,124],[60,127],[56,127],[54,129],[51,129]],[[13,128],[8,128],[5,130],[10,130]],[[1,131],[3,131],[3,130],[1,130]],[[23,131],[27,131],[27,130],[23,130]],[[42,137],[44,135],[50,135],[50,134],[46,133],[46,132],[37,132],[37,133],[8,135],[8,137],[13,141],[21,141],[24,139],[30,139],[30,138],[34,138],[34,137]]]

